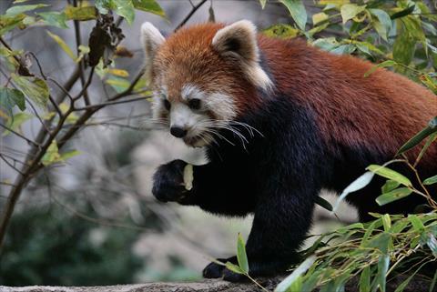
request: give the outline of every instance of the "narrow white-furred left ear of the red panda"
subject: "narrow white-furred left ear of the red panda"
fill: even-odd
[[[143,45],[145,55],[146,74],[150,76],[150,69],[153,59],[157,53],[158,47],[164,43],[166,39],[158,31],[158,28],[149,22],[141,25],[141,44]]]

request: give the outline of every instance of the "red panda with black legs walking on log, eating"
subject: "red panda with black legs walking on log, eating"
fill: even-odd
[[[167,39],[146,23],[141,35],[155,118],[208,156],[208,164],[194,166],[190,190],[186,162],[159,166],[152,193],[219,215],[254,214],[246,245],[252,276],[298,260],[321,188],[340,192],[437,114],[437,96],[404,76],[377,69],[365,77],[373,66],[367,61],[259,35],[249,21],[193,25]],[[435,144],[418,167],[422,177],[437,173]],[[362,221],[369,212],[411,213],[423,202],[408,196],[378,206],[382,184],[374,179],[349,196]],[[203,275],[240,279],[215,263]]]

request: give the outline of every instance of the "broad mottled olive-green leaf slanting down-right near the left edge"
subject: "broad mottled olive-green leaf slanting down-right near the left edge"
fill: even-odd
[[[17,76],[11,74],[12,80],[18,86],[25,96],[36,102],[39,106],[46,106],[49,91],[46,81],[38,77]]]

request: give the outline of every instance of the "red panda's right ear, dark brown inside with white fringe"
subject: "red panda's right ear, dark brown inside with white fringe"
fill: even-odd
[[[219,29],[211,45],[220,55],[239,60],[249,80],[255,86],[271,89],[271,80],[259,65],[257,28],[249,20],[240,20]]]

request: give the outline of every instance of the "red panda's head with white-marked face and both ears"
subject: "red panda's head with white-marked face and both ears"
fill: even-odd
[[[257,104],[259,88],[271,86],[249,21],[193,25],[168,39],[145,23],[141,41],[154,117],[188,146],[211,143],[220,128]]]

